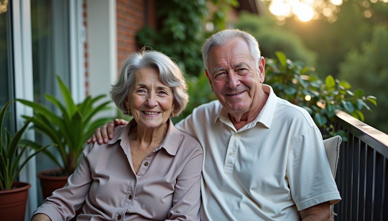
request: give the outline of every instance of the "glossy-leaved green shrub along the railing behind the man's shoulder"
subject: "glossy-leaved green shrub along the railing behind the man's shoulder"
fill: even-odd
[[[361,110],[371,110],[367,102],[377,105],[376,97],[365,97],[362,89],[350,91],[351,85],[347,81],[334,79],[332,75],[320,79],[314,68],[292,62],[280,51],[276,52],[276,57],[267,59],[265,83],[271,85],[280,98],[307,110],[327,136],[341,135],[342,140],[347,140],[343,130],[335,131],[333,125],[327,125],[337,109],[364,121]]]

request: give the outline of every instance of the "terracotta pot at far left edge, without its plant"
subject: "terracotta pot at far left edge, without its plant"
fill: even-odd
[[[14,182],[13,189],[0,190],[1,220],[24,221],[29,183]]]

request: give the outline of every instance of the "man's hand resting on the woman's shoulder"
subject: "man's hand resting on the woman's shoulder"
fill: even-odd
[[[118,125],[127,125],[128,121],[123,119],[114,119],[106,124],[104,124],[101,128],[96,129],[96,133],[88,139],[88,144],[90,142],[97,142],[99,144],[107,143],[110,139],[114,137],[114,127]]]

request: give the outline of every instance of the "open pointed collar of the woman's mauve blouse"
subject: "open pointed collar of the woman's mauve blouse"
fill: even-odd
[[[129,143],[128,134],[131,130],[131,127],[136,124],[137,122],[134,119],[132,119],[126,126],[115,127],[114,132],[116,135],[113,137],[113,139],[109,140],[108,144],[114,144],[118,140],[123,140],[123,141],[126,141],[126,143]],[[168,154],[175,156],[178,150],[179,135],[180,135],[180,131],[177,128],[175,128],[174,124],[171,122],[171,119],[168,118],[168,129],[167,129],[166,137],[163,140],[161,146],[158,147],[156,150],[160,148],[164,148],[168,152]],[[126,145],[126,144],[123,144],[123,145]]]

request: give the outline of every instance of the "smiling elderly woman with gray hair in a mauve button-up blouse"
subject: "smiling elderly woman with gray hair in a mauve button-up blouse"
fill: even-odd
[[[202,147],[170,120],[184,110],[182,72],[157,51],[133,53],[111,97],[133,116],[107,144],[91,143],[68,179],[35,220],[199,220]]]

